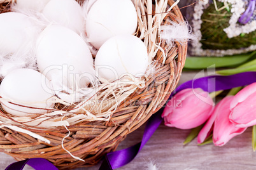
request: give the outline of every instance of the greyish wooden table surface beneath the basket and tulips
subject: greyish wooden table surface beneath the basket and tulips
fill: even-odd
[[[195,76],[198,76],[198,72],[183,72],[180,83]],[[144,128],[145,125],[129,134],[117,150],[141,141]],[[143,170],[150,161],[155,162],[159,170],[256,169],[256,153],[252,150],[252,128],[233,138],[224,147],[216,147],[213,144],[197,146],[196,140],[183,146],[183,141],[189,132],[189,130],[169,128],[161,124],[137,157],[119,169]],[[0,158],[0,169],[15,162],[12,157],[3,153],[0,154]],[[27,166],[24,169],[32,168]],[[96,170],[99,169],[99,165],[87,169]],[[82,168],[76,170],[82,170]]]

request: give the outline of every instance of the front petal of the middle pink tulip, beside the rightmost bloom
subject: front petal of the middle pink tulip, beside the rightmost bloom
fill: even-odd
[[[229,121],[229,114],[231,113],[229,107],[232,98],[233,96],[225,97],[215,108],[217,117],[213,128],[213,143],[217,146],[225,145],[225,143],[234,138],[234,136],[237,136],[246,130],[246,128],[237,128]]]

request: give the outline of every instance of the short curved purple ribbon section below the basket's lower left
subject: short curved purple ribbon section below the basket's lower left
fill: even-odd
[[[53,166],[51,162],[43,158],[31,158],[14,162],[6,167],[5,170],[22,170],[25,164],[28,164],[36,170],[58,170],[57,167]]]

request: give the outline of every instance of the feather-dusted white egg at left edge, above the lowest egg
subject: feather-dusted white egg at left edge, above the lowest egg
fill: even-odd
[[[0,77],[15,69],[36,69],[35,41],[42,25],[21,13],[0,15]]]

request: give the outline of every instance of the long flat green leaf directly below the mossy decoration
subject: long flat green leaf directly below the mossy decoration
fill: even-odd
[[[187,57],[185,62],[185,69],[206,69],[206,68],[219,68],[230,67],[246,62],[249,58],[256,54],[256,51],[252,53],[246,53],[241,55],[224,56],[224,57],[203,57],[203,56],[191,56]]]

